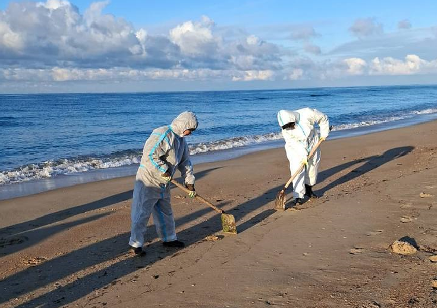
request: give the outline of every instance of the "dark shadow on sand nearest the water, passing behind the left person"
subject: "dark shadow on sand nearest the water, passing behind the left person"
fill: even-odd
[[[210,168],[195,173],[197,179],[202,178],[209,172],[220,169],[221,167]],[[44,240],[48,236],[52,236],[54,233],[61,232],[66,228],[71,228],[83,223],[90,222],[90,219],[80,219],[75,222],[69,222],[65,224],[58,224],[49,228],[44,228],[51,224],[70,219],[76,215],[82,214],[87,211],[96,210],[99,208],[109,207],[122,201],[126,201],[132,198],[133,190],[118,193],[109,197],[105,197],[100,200],[96,200],[90,203],[86,203],[76,207],[70,207],[64,210],[50,213],[42,217],[29,220],[16,225],[8,226],[0,229],[0,256],[6,256],[20,250],[23,250],[29,246],[35,245]],[[96,217],[96,219],[99,217]],[[51,232],[44,232],[51,231]]]

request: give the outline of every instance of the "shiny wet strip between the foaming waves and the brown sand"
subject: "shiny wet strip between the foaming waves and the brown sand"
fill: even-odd
[[[384,132],[402,127],[409,127],[434,121],[437,119],[437,113],[423,114],[412,118],[384,122],[370,126],[357,127],[346,130],[333,131],[330,134],[329,140],[339,138],[349,138],[353,136],[367,135],[377,132]],[[283,140],[271,140],[251,145],[234,147],[225,150],[215,150],[192,155],[193,165],[219,162],[247,155],[248,153],[279,148],[283,146]],[[113,168],[95,169],[86,172],[75,172],[53,177],[23,181],[19,183],[4,184],[0,186],[0,200],[8,200],[23,196],[38,194],[45,191],[60,189],[77,184],[84,184],[107,180],[112,178],[120,178],[124,176],[135,175],[138,164],[125,165]]]

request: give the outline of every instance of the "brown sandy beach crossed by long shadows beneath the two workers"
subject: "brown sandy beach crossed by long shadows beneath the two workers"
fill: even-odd
[[[436,306],[435,136],[437,121],[328,140],[322,197],[284,212],[273,210],[289,177],[283,148],[196,165],[197,192],[235,215],[239,234],[173,188],[188,245],[164,248],[152,226],[145,257],[126,254],[133,177],[0,201],[0,305]],[[416,254],[388,249],[405,237]]]

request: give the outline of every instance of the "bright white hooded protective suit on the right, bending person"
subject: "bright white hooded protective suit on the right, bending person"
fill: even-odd
[[[301,166],[302,162],[308,158],[309,152],[319,141],[319,134],[314,125],[320,127],[320,137],[328,137],[329,121],[326,114],[313,109],[302,108],[296,111],[280,110],[277,114],[279,125],[282,127],[290,122],[295,122],[294,129],[283,129],[282,135],[285,140],[285,151],[290,162],[290,173],[293,175]],[[320,163],[320,149],[313,158],[308,160],[308,164],[293,180],[293,197],[303,198],[305,185],[313,186],[317,180],[317,172]]]

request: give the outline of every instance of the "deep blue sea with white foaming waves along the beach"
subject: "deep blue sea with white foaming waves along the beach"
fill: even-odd
[[[437,118],[437,86],[0,95],[0,199],[25,194],[11,195],[22,182],[133,174],[151,131],[185,110],[199,119],[188,142],[202,161],[280,145],[277,111],[306,106],[328,114],[334,136],[361,134]]]

